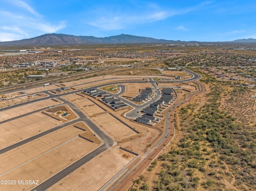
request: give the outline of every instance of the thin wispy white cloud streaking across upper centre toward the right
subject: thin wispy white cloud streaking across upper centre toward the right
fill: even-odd
[[[91,21],[87,24],[101,28],[102,30],[119,30],[132,26],[134,24],[152,23],[159,20],[164,20],[175,15],[187,14],[188,12],[196,11],[205,8],[212,4],[213,1],[205,1],[194,7],[182,9],[182,10],[165,10],[160,8],[155,3],[148,3],[140,11],[127,12],[127,11],[111,11],[106,12],[104,8],[95,8],[90,14]],[[142,6],[142,5],[141,5]],[[111,14],[112,12],[112,14]],[[104,16],[102,16],[104,15]],[[99,17],[97,17],[99,16]],[[90,19],[89,18],[89,19]],[[187,30],[180,28],[179,30]]]

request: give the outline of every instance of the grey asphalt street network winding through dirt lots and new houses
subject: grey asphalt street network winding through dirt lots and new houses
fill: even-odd
[[[193,73],[192,71],[189,71],[187,69],[184,69],[184,71],[192,74],[193,77],[190,78],[190,79],[184,79],[184,80],[179,80],[179,81],[170,81],[169,83],[180,83],[180,82],[186,82],[186,81],[193,81],[193,80],[199,78],[199,75],[197,75],[196,73]],[[151,83],[153,88],[157,91],[158,88],[156,86],[156,82],[153,81],[151,78],[149,79],[148,82]],[[161,81],[158,81],[158,82],[161,82]],[[162,81],[162,82],[166,83],[167,81]],[[119,82],[119,83],[145,83],[145,81],[122,81],[122,82]],[[85,83],[85,84],[87,84],[87,83]],[[112,85],[112,84],[117,84],[117,82],[108,83],[108,84],[104,84],[104,85],[99,85],[99,86],[96,86],[94,88],[103,87],[103,86]],[[132,110],[132,112],[129,112],[129,113],[126,114],[127,117],[131,117],[131,118],[140,116],[140,114],[137,113],[137,111],[142,110],[142,108],[145,108],[150,103],[154,102],[155,100],[157,100],[160,97],[159,94],[156,94],[156,96],[154,96],[154,98],[152,98],[149,102],[138,106],[138,105],[134,104],[133,102],[130,102],[130,101],[120,97],[120,95],[122,93],[124,93],[124,91],[125,91],[125,86],[121,85],[121,88],[122,88],[121,92],[118,95],[113,95],[113,96],[116,96],[117,98],[119,98],[123,102],[125,102],[125,103],[127,103],[127,104],[129,104],[129,105],[131,105],[132,107],[135,108],[134,110]],[[74,112],[76,112],[76,114],[78,114],[78,116],[80,117],[80,118],[78,118],[76,120],[72,120],[72,121],[67,122],[65,124],[61,124],[61,125],[55,127],[56,129],[52,128],[52,129],[47,130],[45,132],[42,132],[42,133],[40,133],[38,135],[32,136],[32,137],[30,137],[30,138],[28,138],[26,140],[22,140],[21,142],[18,142],[16,144],[13,144],[11,146],[3,148],[2,150],[0,150],[0,154],[2,154],[4,152],[7,152],[9,150],[12,150],[14,148],[17,148],[17,147],[19,147],[19,146],[21,146],[23,144],[26,144],[26,143],[28,143],[28,142],[30,142],[32,140],[40,138],[41,136],[44,136],[44,135],[46,135],[46,134],[48,134],[50,132],[53,132],[54,130],[60,129],[60,128],[62,128],[64,126],[67,126],[67,125],[70,125],[70,124],[74,124],[74,123],[76,123],[78,121],[86,122],[86,124],[88,124],[88,126],[90,126],[90,128],[92,128],[92,130],[94,130],[94,132],[96,132],[96,134],[98,134],[98,136],[100,136],[100,138],[102,138],[102,140],[104,140],[104,144],[102,144],[102,146],[98,147],[96,150],[94,150],[90,154],[80,158],[78,161],[75,161],[74,163],[72,163],[71,165],[69,165],[68,167],[63,169],[62,171],[56,173],[55,175],[53,175],[52,177],[50,177],[46,181],[40,183],[40,185],[34,187],[32,189],[32,191],[44,191],[44,190],[48,189],[49,187],[51,187],[52,185],[54,185],[55,183],[60,181],[62,178],[66,177],[68,174],[72,173],[74,170],[76,170],[77,168],[79,168],[80,166],[82,166],[83,164],[85,164],[86,162],[88,162],[90,159],[94,158],[98,154],[102,153],[107,148],[110,148],[114,144],[114,140],[112,140],[109,136],[104,134],[104,132],[102,132],[102,130],[100,130],[88,117],[86,117],[78,108],[76,108],[76,106],[74,106],[74,104],[72,104],[71,102],[68,102],[67,100],[64,100],[64,99],[60,98],[60,96],[69,95],[69,94],[78,93],[78,92],[81,92],[81,90],[72,91],[72,92],[69,92],[69,93],[63,93],[61,95],[50,94],[48,97],[43,97],[43,98],[40,98],[40,99],[37,99],[37,100],[30,100],[28,102],[23,102],[23,103],[20,103],[20,104],[9,106],[8,108],[1,108],[0,109],[0,111],[2,111],[2,110],[6,110],[6,109],[11,109],[11,108],[15,108],[15,107],[18,107],[18,106],[22,106],[22,105],[25,105],[25,104],[28,104],[28,103],[36,102],[36,101],[39,101],[39,100],[46,100],[46,99],[49,99],[49,98],[58,98],[59,100],[62,100],[64,102],[63,104],[69,105],[74,110]],[[42,91],[42,93],[46,93],[46,92]],[[46,93],[46,94],[48,94],[48,93]],[[108,94],[111,94],[111,93],[108,93]],[[29,114],[32,114],[32,113],[35,113],[35,112],[38,112],[38,111],[39,110],[36,110],[36,111],[30,112]],[[26,115],[27,114],[24,114],[22,116],[26,116]],[[22,116],[17,116],[15,118],[20,118]],[[13,119],[14,118],[12,118],[12,120]],[[10,121],[10,120],[5,120],[5,121],[7,122],[7,121]]]

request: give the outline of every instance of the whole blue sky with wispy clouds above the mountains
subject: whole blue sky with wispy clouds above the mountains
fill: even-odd
[[[121,33],[184,41],[256,38],[255,0],[0,0],[0,41]]]

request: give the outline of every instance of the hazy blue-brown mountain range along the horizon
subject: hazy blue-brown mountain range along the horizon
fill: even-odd
[[[110,37],[75,36],[66,34],[44,34],[30,39],[0,42],[0,45],[82,45],[82,44],[139,44],[139,43],[206,43],[199,41],[174,41],[121,34]],[[238,39],[218,43],[256,43],[256,39]]]

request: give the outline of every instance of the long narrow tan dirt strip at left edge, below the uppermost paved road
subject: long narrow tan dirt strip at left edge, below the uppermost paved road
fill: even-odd
[[[39,110],[42,108],[46,108],[49,106],[53,106],[56,104],[60,104],[61,102],[56,102],[54,100],[48,99],[43,101],[34,102],[32,104],[27,104],[26,106],[20,106],[13,109],[7,109],[0,112],[0,121],[7,120],[10,118],[14,118],[16,116],[20,116],[22,114],[26,114],[32,112],[34,110]]]

